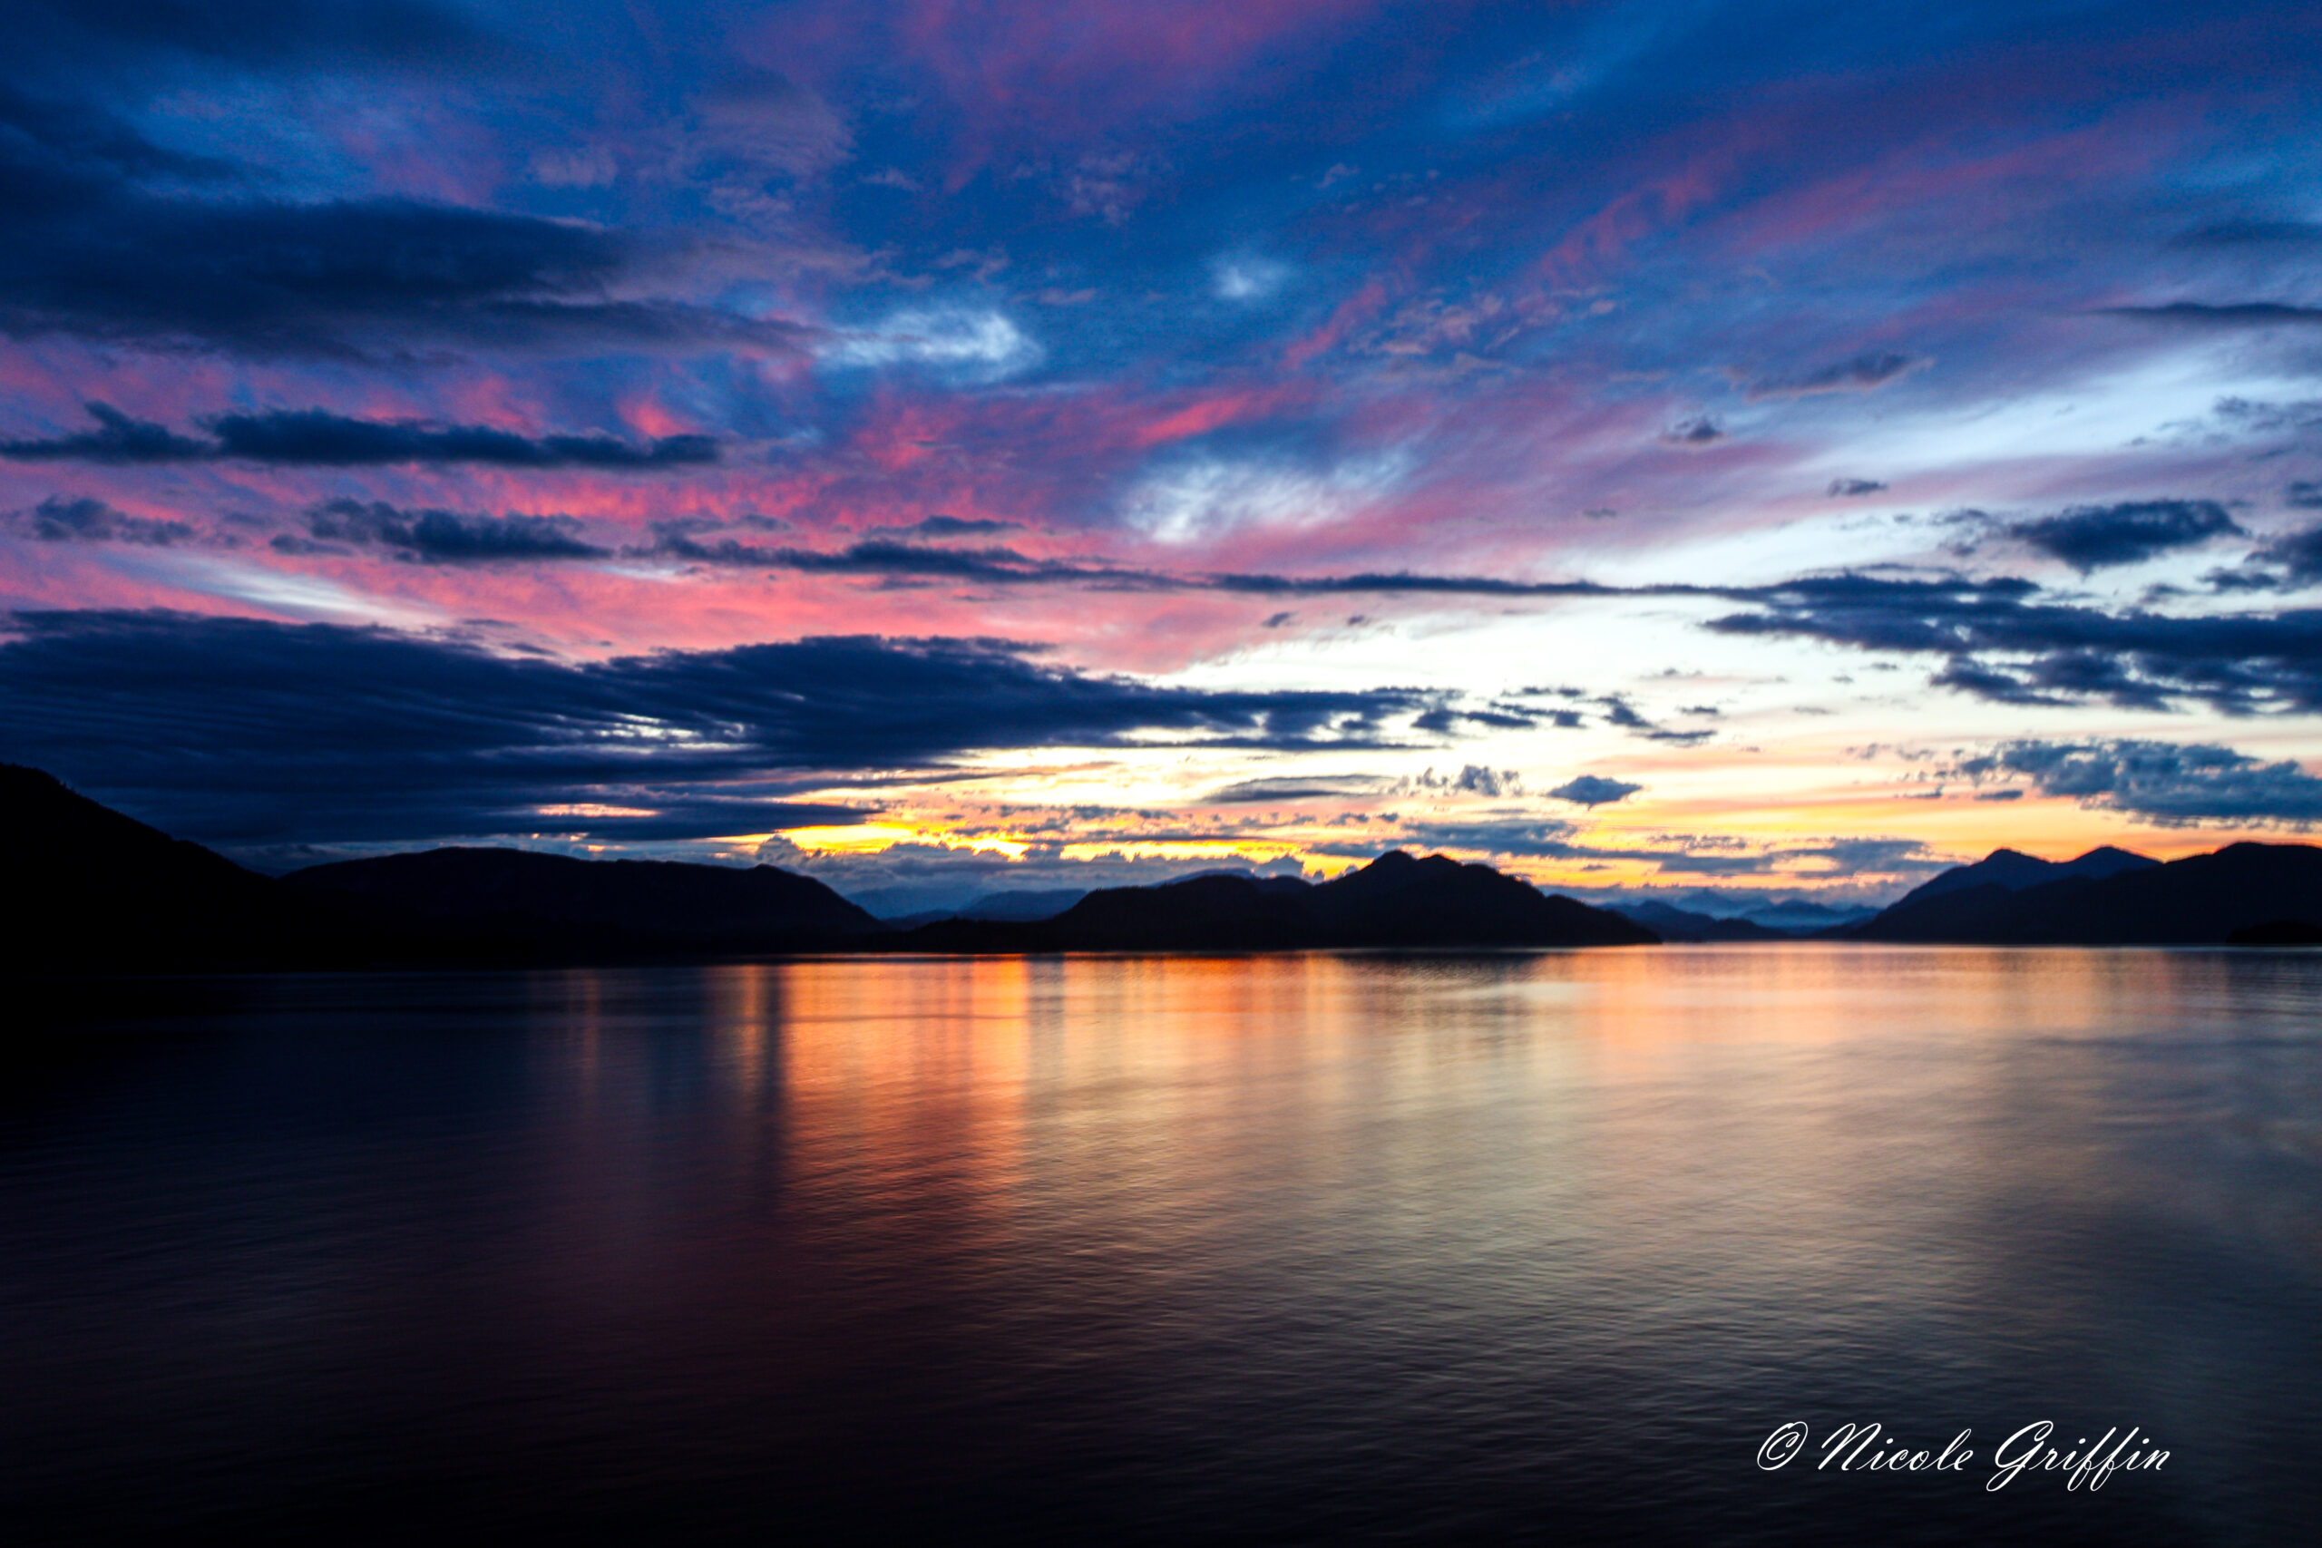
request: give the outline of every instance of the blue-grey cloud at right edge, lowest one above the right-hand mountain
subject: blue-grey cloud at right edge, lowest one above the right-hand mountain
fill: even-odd
[[[2011,740],[1962,759],[1967,780],[2022,777],[2043,796],[2129,812],[2166,826],[2201,822],[2306,826],[2322,819],[2322,780],[2215,743]],[[1988,791],[2004,798],[2011,791]]]

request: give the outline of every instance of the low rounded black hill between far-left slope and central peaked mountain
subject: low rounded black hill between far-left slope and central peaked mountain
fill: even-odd
[[[885,928],[822,882],[773,866],[423,849],[309,866],[283,887],[560,956],[827,952]]]

